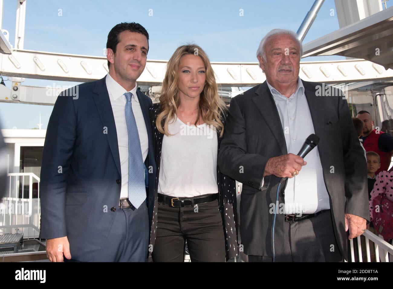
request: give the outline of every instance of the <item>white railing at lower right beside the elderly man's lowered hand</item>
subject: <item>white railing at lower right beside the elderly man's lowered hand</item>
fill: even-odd
[[[367,262],[393,262],[393,245],[384,241],[381,235],[377,236],[376,234],[374,234],[369,230],[365,230],[362,236],[364,236],[365,238],[365,254],[367,256]],[[356,238],[358,244],[358,252],[357,252],[358,262],[363,262],[362,238],[361,238],[362,236],[358,236]],[[351,246],[351,256],[350,256],[351,262],[355,262],[355,254],[356,254],[356,252],[354,252],[353,240],[354,239],[350,240],[349,242]],[[374,247],[373,251],[375,252],[375,260],[371,260],[369,241],[371,241]]]

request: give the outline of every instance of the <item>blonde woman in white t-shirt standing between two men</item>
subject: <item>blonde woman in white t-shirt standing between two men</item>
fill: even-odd
[[[235,181],[220,173],[227,109],[197,45],[176,49],[151,107],[157,165],[149,252],[154,262],[224,262],[238,255]]]

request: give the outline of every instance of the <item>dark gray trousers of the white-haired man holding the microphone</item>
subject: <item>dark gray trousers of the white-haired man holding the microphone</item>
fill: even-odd
[[[284,242],[282,252],[275,252],[275,262],[341,262],[343,260],[334,237],[331,211],[316,217],[284,222],[284,236],[275,235],[276,242]],[[269,256],[248,256],[248,262],[272,262]]]

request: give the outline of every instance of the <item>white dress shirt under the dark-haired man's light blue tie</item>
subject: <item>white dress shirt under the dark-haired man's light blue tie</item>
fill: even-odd
[[[125,121],[125,104],[126,98],[124,93],[128,92],[116,80],[114,80],[109,73],[105,78],[107,89],[112,105],[113,116],[115,118],[116,133],[118,135],[119,157],[121,168],[121,191],[120,198],[128,198],[128,130]],[[135,116],[136,126],[138,128],[139,140],[141,143],[142,159],[145,161],[147,151],[149,150],[149,141],[147,138],[147,129],[145,119],[143,118],[142,109],[139,104],[138,96],[136,95],[137,84],[129,92],[132,93],[131,106],[132,112]]]

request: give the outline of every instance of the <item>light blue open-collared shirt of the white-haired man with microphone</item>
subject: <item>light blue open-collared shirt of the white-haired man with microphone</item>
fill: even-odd
[[[295,93],[289,98],[267,84],[280,116],[286,150],[288,154],[298,154],[307,137],[315,133],[303,83],[299,77]],[[298,176],[288,178],[285,214],[312,214],[330,209],[318,147],[311,150],[304,160],[307,165],[302,166]]]

